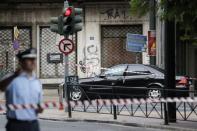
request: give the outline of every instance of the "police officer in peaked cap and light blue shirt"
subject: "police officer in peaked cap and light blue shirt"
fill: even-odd
[[[6,104],[38,104],[42,100],[42,85],[36,78],[36,49],[28,49],[18,53],[21,71],[12,77],[6,89]],[[20,109],[7,111],[7,131],[39,131],[37,121],[39,109]]]

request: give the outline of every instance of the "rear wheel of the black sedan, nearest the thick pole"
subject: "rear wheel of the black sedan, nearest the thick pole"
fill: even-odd
[[[147,92],[147,96],[148,98],[152,98],[152,99],[158,99],[162,97],[162,93],[161,90],[159,90],[158,88],[160,87],[150,87],[150,88],[155,88],[155,89],[149,89]]]

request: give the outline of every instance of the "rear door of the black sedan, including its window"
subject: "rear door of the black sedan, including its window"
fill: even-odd
[[[148,71],[144,65],[129,65],[123,81],[123,88],[118,92],[125,94],[126,97],[145,97],[147,84],[153,77],[154,74]]]

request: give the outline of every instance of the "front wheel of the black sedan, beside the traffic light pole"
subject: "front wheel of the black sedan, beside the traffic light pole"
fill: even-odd
[[[70,99],[73,101],[83,100],[84,94],[80,87],[74,86],[70,89]]]

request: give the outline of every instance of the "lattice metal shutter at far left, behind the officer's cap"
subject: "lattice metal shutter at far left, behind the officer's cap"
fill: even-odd
[[[19,29],[19,49],[18,51],[25,50],[31,47],[31,27],[18,27]],[[14,63],[17,66],[17,60],[14,60],[16,52],[13,48],[13,30],[11,26],[0,26],[0,75],[3,76],[7,73],[14,71]]]

